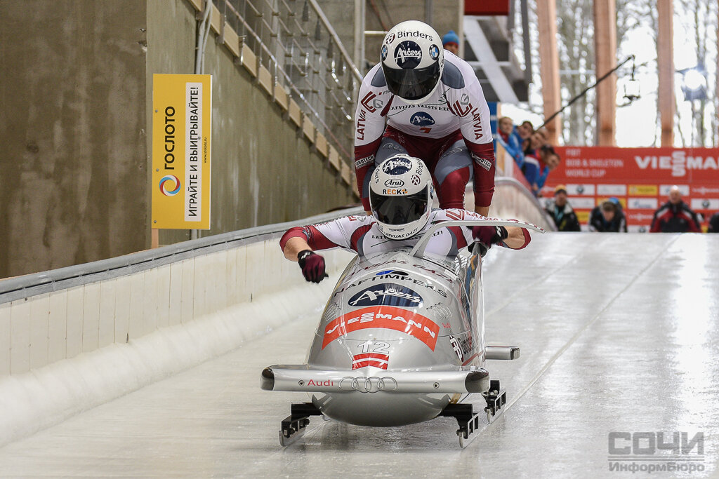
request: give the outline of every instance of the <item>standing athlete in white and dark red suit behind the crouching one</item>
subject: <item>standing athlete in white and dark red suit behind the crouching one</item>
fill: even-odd
[[[463,209],[473,177],[475,212],[489,212],[495,185],[489,107],[472,67],[441,45],[423,22],[397,24],[385,36],[381,62],[362,80],[354,171],[367,214],[372,171],[397,153],[425,162],[439,208]]]

